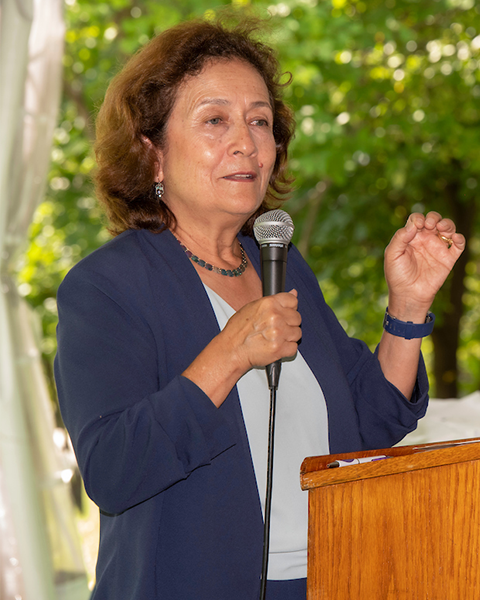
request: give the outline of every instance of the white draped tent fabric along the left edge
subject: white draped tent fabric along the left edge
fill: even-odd
[[[88,597],[33,315],[11,277],[46,180],[62,0],[0,0],[0,597]]]

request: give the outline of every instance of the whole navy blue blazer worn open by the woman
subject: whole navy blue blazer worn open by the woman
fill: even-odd
[[[255,241],[241,239],[259,271]],[[325,395],[332,453],[401,440],[426,410],[423,364],[408,402],[293,246],[286,286],[298,290],[300,350]],[[217,409],[180,375],[219,333],[180,245],[169,231],[123,233],[70,271],[58,309],[61,412],[101,510],[92,598],[256,600],[263,522],[237,390]]]

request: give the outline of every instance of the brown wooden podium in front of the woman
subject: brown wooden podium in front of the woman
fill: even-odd
[[[308,600],[480,598],[480,438],[307,458],[301,485]]]

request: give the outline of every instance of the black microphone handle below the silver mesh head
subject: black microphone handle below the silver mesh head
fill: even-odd
[[[273,296],[285,291],[288,246],[280,243],[262,244],[260,257],[262,265],[262,291],[264,296]],[[277,360],[266,366],[268,387],[278,388],[282,362]]]

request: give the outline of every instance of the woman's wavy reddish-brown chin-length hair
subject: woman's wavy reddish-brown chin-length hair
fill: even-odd
[[[175,215],[154,191],[156,148],[166,150],[167,122],[177,90],[212,60],[240,59],[263,77],[273,107],[277,158],[265,199],[242,231],[251,235],[256,217],[278,207],[291,191],[287,150],[294,133],[293,113],[282,101],[285,85],[272,48],[255,39],[261,20],[235,25],[194,20],[167,29],[137,52],[113,79],[96,121],[96,193],[109,219],[109,230],[161,231]],[[151,142],[151,143],[150,143]]]

